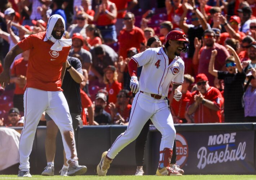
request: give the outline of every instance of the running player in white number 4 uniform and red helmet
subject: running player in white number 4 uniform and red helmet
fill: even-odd
[[[102,154],[97,166],[99,176],[106,175],[112,159],[137,138],[149,119],[162,134],[156,175],[182,176],[169,166],[176,130],[165,97],[168,94],[169,85],[173,82],[173,98],[177,101],[181,99],[184,62],[179,55],[187,50],[186,42],[188,41],[184,32],[170,31],[166,36],[165,48],[149,48],[131,58],[128,64],[131,76],[130,87],[133,93],[138,93],[132,103],[127,130],[116,138],[108,151]],[[139,83],[137,67],[140,66],[143,67]]]

